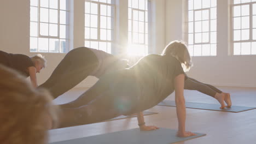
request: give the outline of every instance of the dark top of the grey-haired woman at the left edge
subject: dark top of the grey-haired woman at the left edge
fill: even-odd
[[[31,58],[26,55],[7,53],[0,51],[0,64],[19,71],[22,75],[28,77],[28,67],[35,67]]]

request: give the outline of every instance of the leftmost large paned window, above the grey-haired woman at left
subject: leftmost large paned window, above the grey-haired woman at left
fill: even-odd
[[[30,0],[30,52],[68,52],[68,29],[68,0]]]

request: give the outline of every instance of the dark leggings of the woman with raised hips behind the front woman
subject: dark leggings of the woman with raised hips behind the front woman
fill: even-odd
[[[83,81],[97,66],[98,59],[94,52],[86,47],[78,47],[67,53],[49,79],[38,88],[48,89],[57,98]]]

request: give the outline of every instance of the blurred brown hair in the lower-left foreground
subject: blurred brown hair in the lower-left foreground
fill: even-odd
[[[35,89],[16,71],[0,64],[0,143],[45,144],[49,114],[57,121],[57,109],[44,89]]]

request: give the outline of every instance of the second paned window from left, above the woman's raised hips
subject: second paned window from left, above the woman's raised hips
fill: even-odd
[[[113,0],[85,1],[85,46],[112,52],[115,5]]]

